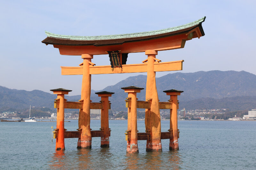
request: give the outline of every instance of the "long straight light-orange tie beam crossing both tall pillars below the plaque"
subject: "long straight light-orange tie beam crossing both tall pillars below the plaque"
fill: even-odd
[[[182,62],[180,61],[172,61],[172,62],[163,62],[158,63],[154,62],[154,71],[175,71],[182,70]],[[115,68],[112,71],[110,65],[106,66],[90,66],[90,74],[114,74],[114,73],[138,73],[138,72],[147,72],[147,63],[142,64],[124,64],[121,68]],[[61,75],[82,75],[83,74],[83,66],[80,67],[60,67]]]

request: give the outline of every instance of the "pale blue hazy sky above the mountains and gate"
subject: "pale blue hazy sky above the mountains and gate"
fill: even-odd
[[[183,25],[206,16],[205,36],[185,48],[161,51],[163,62],[184,60],[180,72],[248,71],[255,68],[255,1],[1,1],[0,85],[13,89],[54,88],[81,92],[82,76],[61,76],[60,66],[77,66],[81,56],[60,55],[41,43],[44,31],[66,35],[135,33]],[[144,53],[127,63],[141,63]],[[109,65],[108,55],[94,55],[96,65]],[[161,77],[172,72],[157,72]],[[92,89],[141,73],[92,75]],[[144,73],[145,74],[145,73]],[[104,82],[105,83],[102,83]],[[171,82],[170,82],[171,83]]]

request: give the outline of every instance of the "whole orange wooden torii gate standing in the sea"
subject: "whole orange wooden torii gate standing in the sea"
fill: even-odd
[[[81,100],[79,102],[67,103],[67,101],[64,100],[64,95],[63,96],[61,95],[67,94],[69,92],[68,90],[66,89],[64,90],[59,89],[59,91],[58,89],[52,90],[55,94],[59,95],[59,97],[55,101],[55,106],[56,108],[59,107],[59,110],[61,110],[61,113],[63,112],[64,114],[64,111],[62,111],[60,107],[63,107],[63,109],[64,108],[80,109],[79,120],[78,120],[78,132],[76,133],[68,132],[68,131],[64,132],[65,129],[64,129],[64,122],[63,122],[63,128],[61,128],[62,130],[60,131],[60,128],[57,128],[55,131],[55,136],[56,134],[58,134],[63,138],[65,134],[64,138],[66,138],[66,136],[78,137],[79,138],[77,143],[78,148],[91,148],[93,135],[90,129],[90,108],[92,108],[92,106],[94,105],[95,106],[98,105],[100,107],[97,107],[97,108],[101,108],[102,110],[104,110],[105,108],[104,112],[106,112],[106,110],[108,110],[107,107],[109,105],[109,101],[107,102],[106,99],[104,100],[105,104],[102,104],[103,102],[101,102],[101,104],[97,104],[97,103],[92,103],[90,101],[91,75],[147,72],[145,102],[149,102],[149,103],[145,103],[143,107],[137,107],[136,106],[137,104],[131,105],[130,107],[132,108],[132,106],[133,107],[136,106],[136,108],[145,108],[145,128],[146,128],[146,133],[148,135],[148,138],[145,139],[147,140],[146,150],[162,151],[161,138],[165,139],[166,137],[162,137],[162,133],[165,133],[165,132],[161,133],[161,122],[160,122],[160,111],[159,111],[159,109],[161,108],[171,109],[170,113],[173,114],[171,115],[171,120],[170,120],[170,125],[172,126],[169,129],[169,132],[170,133],[172,132],[172,140],[171,140],[171,137],[169,137],[170,150],[177,150],[179,148],[178,147],[178,130],[177,128],[175,128],[177,127],[177,120],[175,120],[176,122],[173,122],[174,121],[173,116],[176,114],[176,117],[177,117],[178,103],[174,103],[175,107],[173,107],[173,104],[172,104],[172,107],[171,106],[167,107],[167,105],[169,106],[170,103],[168,104],[167,102],[165,103],[159,102],[158,94],[156,90],[156,72],[182,70],[183,60],[172,61],[172,62],[161,62],[161,60],[156,58],[156,55],[158,51],[184,48],[186,41],[191,40],[193,38],[200,38],[201,36],[204,36],[204,30],[202,27],[202,22],[204,22],[204,20],[205,20],[205,17],[182,26],[176,26],[172,28],[149,31],[149,32],[119,34],[119,35],[69,36],[69,35],[59,35],[59,34],[45,32],[47,35],[47,38],[42,41],[43,43],[45,43],[46,45],[52,44],[54,48],[59,48],[61,55],[80,55],[83,58],[83,63],[79,64],[78,67],[61,67],[62,75],[83,75]],[[118,60],[120,60],[120,63],[121,63],[119,67],[113,68],[110,65],[96,66],[96,64],[92,63],[93,55],[107,54],[106,53],[107,51],[108,52],[119,51],[117,52],[119,53],[117,54],[119,55]],[[142,64],[126,64],[126,61],[124,61],[125,58],[123,56],[124,55],[127,56],[128,53],[136,53],[136,52],[145,52],[145,55],[147,55],[147,58],[144,61],[142,61]],[[134,89],[133,90],[126,89],[126,92],[128,93],[131,91],[134,91]],[[134,94],[135,92],[139,92],[138,89],[137,90],[135,89],[135,91],[132,92],[133,96],[135,95]],[[166,92],[167,95],[171,95],[171,100],[169,102],[173,103],[174,100],[177,100],[177,95],[179,95],[180,92],[182,91],[171,90],[171,91],[164,91],[164,92]],[[106,96],[106,97],[111,96],[108,94],[112,94],[112,93],[103,92],[101,96]],[[174,97],[172,99],[172,95],[174,96],[176,95],[176,98]],[[127,105],[129,105],[129,102],[134,103],[135,100],[130,101],[129,99],[130,98],[128,94],[128,100],[126,101],[128,103]],[[60,103],[60,101],[62,102],[62,104]],[[172,109],[175,109],[176,111],[173,111]],[[61,113],[59,112],[57,114],[61,114]],[[129,111],[128,111],[128,117],[129,117]],[[57,125],[60,127],[58,122],[57,122]],[[102,127],[101,127],[101,130],[102,130]],[[108,132],[108,129],[104,129],[104,130],[105,132],[106,131]],[[133,135],[136,134],[137,126],[136,126],[136,133],[132,132],[134,130],[135,129],[129,129],[129,124],[128,124],[127,136],[130,135],[130,132]],[[101,134],[101,132],[102,131],[100,131],[99,134]],[[93,132],[94,135],[95,133],[98,133],[98,132]],[[105,137],[106,137],[106,133],[105,133]],[[58,137],[58,135],[56,136],[56,138]],[[109,132],[109,136],[110,136],[110,132]],[[64,138],[63,138],[63,144],[64,144]],[[127,137],[127,140],[129,141],[128,138],[129,137]],[[172,141],[172,144],[171,144],[171,141]],[[105,145],[108,146],[108,144],[105,144]],[[56,145],[56,149],[57,149],[57,145]],[[64,145],[63,146],[61,145],[60,147],[58,147],[58,150],[63,150],[63,149],[65,149]],[[128,151],[127,149],[127,152],[133,152],[133,151]]]

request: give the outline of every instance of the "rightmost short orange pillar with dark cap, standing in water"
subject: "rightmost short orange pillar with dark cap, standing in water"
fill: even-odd
[[[170,139],[169,150],[179,150],[178,143],[178,118],[177,118],[177,106],[178,95],[183,91],[180,90],[166,90],[166,95],[170,95],[170,101],[172,101],[172,109],[170,109],[170,131],[172,131],[172,139]]]

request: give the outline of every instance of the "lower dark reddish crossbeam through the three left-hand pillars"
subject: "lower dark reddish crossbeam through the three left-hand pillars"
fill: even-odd
[[[82,131],[65,131],[64,138],[79,138],[81,137]],[[92,137],[103,137],[104,131],[103,130],[91,130]],[[59,136],[58,131],[53,131],[53,138],[57,139]],[[110,136],[110,130],[109,130]]]

